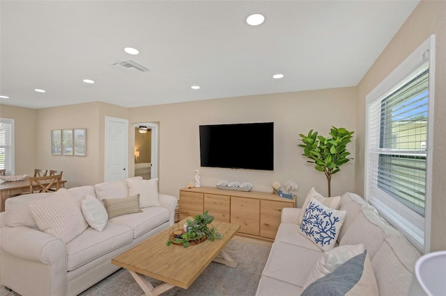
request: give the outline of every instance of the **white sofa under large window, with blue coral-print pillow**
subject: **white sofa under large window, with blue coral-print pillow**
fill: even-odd
[[[415,262],[420,257],[420,253],[359,195],[346,193],[341,196],[339,210],[346,211],[346,215],[337,238],[337,245],[332,251],[324,252],[299,231],[300,225],[296,221],[300,211],[305,210],[284,208],[281,224],[272,244],[256,296],[286,296],[304,293],[309,274],[314,272],[316,266],[321,265],[321,260],[328,260],[326,254],[329,252],[333,254],[343,246],[345,249],[347,245],[359,244],[364,245],[364,249],[367,250],[374,275],[366,285],[370,284],[371,287],[375,286],[377,289],[376,293],[371,293],[373,289],[359,289],[351,294],[408,295]],[[335,286],[336,281],[328,286],[328,290]],[[313,295],[329,295],[328,290],[323,289]]]

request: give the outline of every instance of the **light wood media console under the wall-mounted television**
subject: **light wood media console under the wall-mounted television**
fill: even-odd
[[[209,211],[217,221],[239,224],[240,235],[274,240],[282,208],[295,208],[295,200],[269,192],[182,188],[180,220]]]

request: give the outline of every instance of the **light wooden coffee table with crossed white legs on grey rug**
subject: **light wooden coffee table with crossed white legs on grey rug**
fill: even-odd
[[[192,217],[188,219],[193,220]],[[186,219],[178,222],[185,224]],[[213,242],[205,240],[199,245],[171,245],[167,247],[169,229],[144,240],[139,245],[129,249],[112,259],[112,264],[127,269],[137,281],[145,295],[160,295],[178,286],[189,288],[201,272],[215,261],[235,268],[237,263],[224,250],[226,244],[240,228],[238,224],[214,221],[213,226],[222,233],[221,240]],[[160,286],[153,287],[148,277],[163,281]]]

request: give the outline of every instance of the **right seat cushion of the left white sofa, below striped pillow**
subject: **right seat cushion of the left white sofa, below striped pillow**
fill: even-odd
[[[114,217],[109,221],[133,229],[133,238],[139,238],[158,225],[169,222],[169,210],[161,206],[141,208],[141,213]]]

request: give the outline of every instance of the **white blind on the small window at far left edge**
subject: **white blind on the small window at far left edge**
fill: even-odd
[[[0,169],[14,174],[14,120],[0,118]]]

